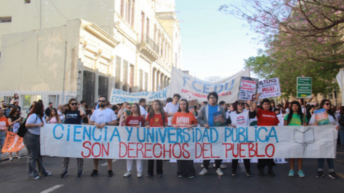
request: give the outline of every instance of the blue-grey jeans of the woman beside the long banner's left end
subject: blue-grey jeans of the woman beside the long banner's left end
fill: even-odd
[[[38,175],[46,176],[48,174],[48,171],[43,167],[39,138],[39,135],[34,135],[28,131],[23,139],[24,145],[28,149],[28,178],[34,178]],[[36,164],[38,171],[36,170]]]

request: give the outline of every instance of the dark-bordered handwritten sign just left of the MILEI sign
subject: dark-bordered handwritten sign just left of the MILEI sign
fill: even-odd
[[[241,76],[239,100],[255,100],[257,95],[258,79]]]

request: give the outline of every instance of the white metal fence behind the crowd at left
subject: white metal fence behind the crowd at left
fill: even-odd
[[[10,104],[14,94],[19,96],[19,106],[22,107],[23,117],[29,113],[31,104],[39,99],[43,101],[45,108],[48,107],[49,102],[57,108],[58,104],[66,104],[70,98],[76,97],[76,91],[64,93],[60,91],[0,91],[0,101],[4,100],[6,104]]]

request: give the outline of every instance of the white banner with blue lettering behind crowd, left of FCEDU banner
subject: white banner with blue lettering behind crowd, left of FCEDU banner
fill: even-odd
[[[166,87],[158,92],[138,92],[128,93],[119,89],[112,89],[110,102],[111,104],[122,102],[139,102],[140,98],[145,98],[146,101],[166,100],[169,87]]]

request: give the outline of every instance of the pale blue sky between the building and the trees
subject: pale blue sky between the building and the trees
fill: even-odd
[[[244,69],[244,59],[264,48],[245,20],[218,11],[231,0],[176,0],[184,71],[200,79],[229,77]]]

